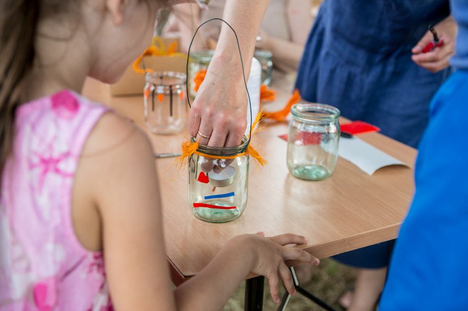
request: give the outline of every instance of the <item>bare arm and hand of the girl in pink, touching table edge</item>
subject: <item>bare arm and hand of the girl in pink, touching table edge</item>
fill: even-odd
[[[273,299],[278,301],[278,274],[289,292],[294,292],[285,259],[318,264],[303,250],[281,246],[304,243],[304,237],[246,234],[230,240],[199,275],[173,292],[148,139],[131,123],[108,114],[91,134],[85,147],[88,154],[94,156],[81,160],[74,196],[89,198],[88,204],[98,212],[90,215],[101,224],[97,232],[102,234],[96,238],[103,241],[116,311],[220,310],[250,271],[269,278]],[[79,219],[74,221],[80,236],[80,228],[87,228],[80,227]]]

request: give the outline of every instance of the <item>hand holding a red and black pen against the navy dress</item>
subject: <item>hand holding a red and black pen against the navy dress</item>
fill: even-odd
[[[431,30],[432,28],[432,30]],[[411,59],[419,66],[437,73],[449,67],[454,54],[457,24],[449,16],[430,29],[411,50]]]

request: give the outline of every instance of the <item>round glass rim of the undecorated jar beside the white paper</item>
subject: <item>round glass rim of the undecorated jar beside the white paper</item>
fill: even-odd
[[[318,103],[297,103],[291,107],[292,115],[307,122],[322,122],[335,120],[340,116],[340,110],[334,106]]]

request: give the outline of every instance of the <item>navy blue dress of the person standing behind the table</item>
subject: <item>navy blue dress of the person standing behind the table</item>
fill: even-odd
[[[296,88],[302,98],[330,104],[351,120],[417,147],[429,102],[448,76],[411,60],[411,49],[450,14],[448,0],[325,0],[309,35]],[[356,266],[387,265],[390,242],[340,254]]]

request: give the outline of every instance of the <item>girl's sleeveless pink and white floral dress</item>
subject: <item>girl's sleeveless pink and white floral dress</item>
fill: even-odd
[[[110,311],[103,254],[72,225],[75,172],[107,111],[64,90],[16,111],[13,154],[1,179],[0,311]]]

